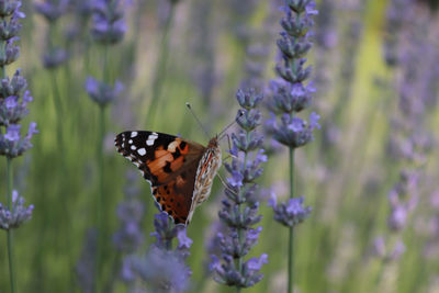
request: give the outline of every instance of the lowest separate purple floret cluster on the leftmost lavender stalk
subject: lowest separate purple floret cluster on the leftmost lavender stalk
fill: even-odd
[[[16,190],[12,191],[12,212],[0,203],[0,228],[9,230],[20,227],[32,218],[33,210],[33,204],[25,207],[24,199],[19,196]]]

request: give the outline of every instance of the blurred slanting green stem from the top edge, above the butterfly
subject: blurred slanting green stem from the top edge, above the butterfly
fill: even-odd
[[[165,23],[164,33],[161,36],[160,48],[159,48],[160,56],[156,66],[156,72],[153,81],[151,102],[148,108],[148,114],[146,115],[148,122],[151,124],[154,124],[155,113],[157,112],[157,104],[161,97],[162,84],[166,78],[166,67],[169,57],[169,45],[168,45],[169,32],[172,26],[175,11],[176,11],[176,4],[172,2],[169,15]]]

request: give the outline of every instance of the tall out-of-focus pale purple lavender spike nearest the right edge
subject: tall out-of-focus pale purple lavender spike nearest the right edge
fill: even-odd
[[[398,66],[401,72],[396,79],[401,83],[396,84],[398,94],[398,111],[391,117],[391,147],[394,151],[392,159],[399,166],[399,178],[389,192],[390,213],[387,215],[387,234],[382,236],[382,241],[386,248],[385,253],[379,257],[385,262],[389,260],[397,261],[405,251],[405,245],[402,234],[407,229],[407,225],[413,216],[418,202],[420,201],[421,181],[425,177],[423,166],[427,161],[427,155],[431,148],[432,139],[425,128],[426,100],[417,99],[419,84],[424,84],[424,68],[430,68],[423,64],[428,54],[419,57],[419,52],[425,52],[428,36],[424,36],[425,19],[412,18],[414,3],[412,1],[391,1],[389,16],[390,24],[401,30],[398,34],[406,34],[410,42],[404,46],[397,46],[394,53],[394,59],[387,59],[390,66]],[[393,15],[393,13],[405,12],[404,14]],[[412,23],[413,21],[413,23]],[[410,22],[410,25],[404,27],[404,24]],[[405,30],[403,30],[405,29]],[[396,34],[396,32],[395,32]],[[404,53],[404,54],[402,54]],[[392,60],[392,61],[391,61]],[[391,61],[391,63],[390,63]],[[416,97],[416,98],[415,98]],[[397,241],[395,240],[397,239]]]

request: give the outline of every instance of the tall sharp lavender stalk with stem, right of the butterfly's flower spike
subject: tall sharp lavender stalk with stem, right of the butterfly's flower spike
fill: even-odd
[[[274,219],[289,227],[288,245],[288,292],[293,292],[293,228],[303,222],[311,209],[302,206],[304,199],[294,198],[294,150],[314,139],[313,131],[319,128],[319,115],[311,113],[309,123],[299,117],[297,113],[312,103],[315,91],[312,83],[305,83],[312,68],[306,66],[306,55],[312,48],[311,35],[314,25],[313,16],[317,14],[313,0],[285,0],[282,10],[285,15],[280,21],[282,31],[277,45],[280,61],[275,66],[279,78],[271,81],[272,99],[268,101],[271,119],[266,121],[266,128],[273,138],[289,147],[290,164],[290,201],[279,205],[271,200]],[[280,119],[280,123],[278,120]]]

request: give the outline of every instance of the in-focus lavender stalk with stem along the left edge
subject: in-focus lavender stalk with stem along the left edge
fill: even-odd
[[[29,126],[27,135],[21,137],[19,124],[29,113],[27,102],[32,101],[25,91],[26,81],[20,76],[20,69],[12,79],[7,76],[5,66],[19,58],[20,48],[15,46],[21,30],[20,19],[25,14],[20,11],[20,0],[0,1],[0,155],[7,157],[5,182],[7,206],[0,204],[0,228],[7,229],[8,260],[11,292],[15,290],[15,272],[13,270],[13,237],[12,228],[19,227],[32,216],[33,205],[24,207],[24,199],[13,191],[11,164],[12,158],[22,155],[32,147],[31,138],[36,133],[36,123]]]

